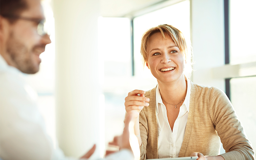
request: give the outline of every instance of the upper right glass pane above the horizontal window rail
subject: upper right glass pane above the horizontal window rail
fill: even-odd
[[[230,64],[256,61],[256,1],[229,1]]]

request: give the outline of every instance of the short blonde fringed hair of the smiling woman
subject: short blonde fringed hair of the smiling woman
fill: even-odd
[[[177,47],[180,49],[185,54],[185,60],[186,60],[186,67],[185,67],[185,75],[187,77],[190,77],[192,72],[192,64],[193,64],[193,51],[192,51],[192,46],[190,41],[185,40],[183,34],[180,32],[179,29],[173,27],[172,25],[164,24],[164,25],[159,25],[153,28],[148,29],[142,36],[141,39],[141,48],[140,48],[140,53],[142,55],[142,60],[144,63],[144,66],[146,62],[148,61],[148,53],[147,53],[147,48],[148,48],[148,42],[149,38],[155,34],[155,33],[161,33],[163,38],[165,38],[164,33],[166,33],[168,36],[172,37],[172,40],[174,43],[177,45]]]

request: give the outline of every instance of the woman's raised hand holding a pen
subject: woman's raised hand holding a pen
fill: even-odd
[[[145,97],[145,91],[134,90],[128,93],[128,96],[125,98],[125,110],[129,114],[132,114],[134,118],[138,118],[140,111],[144,106],[149,106],[149,98]]]

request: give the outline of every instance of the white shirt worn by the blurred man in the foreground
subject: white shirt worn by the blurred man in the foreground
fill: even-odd
[[[37,108],[37,93],[20,70],[0,55],[0,158],[3,160],[71,160],[54,149]],[[133,160],[124,149],[104,160]]]

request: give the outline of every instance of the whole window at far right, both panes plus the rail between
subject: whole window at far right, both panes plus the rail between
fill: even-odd
[[[252,147],[256,146],[256,1],[226,0],[229,9],[229,67],[226,92],[242,122]],[[227,32],[227,31],[226,31]]]

